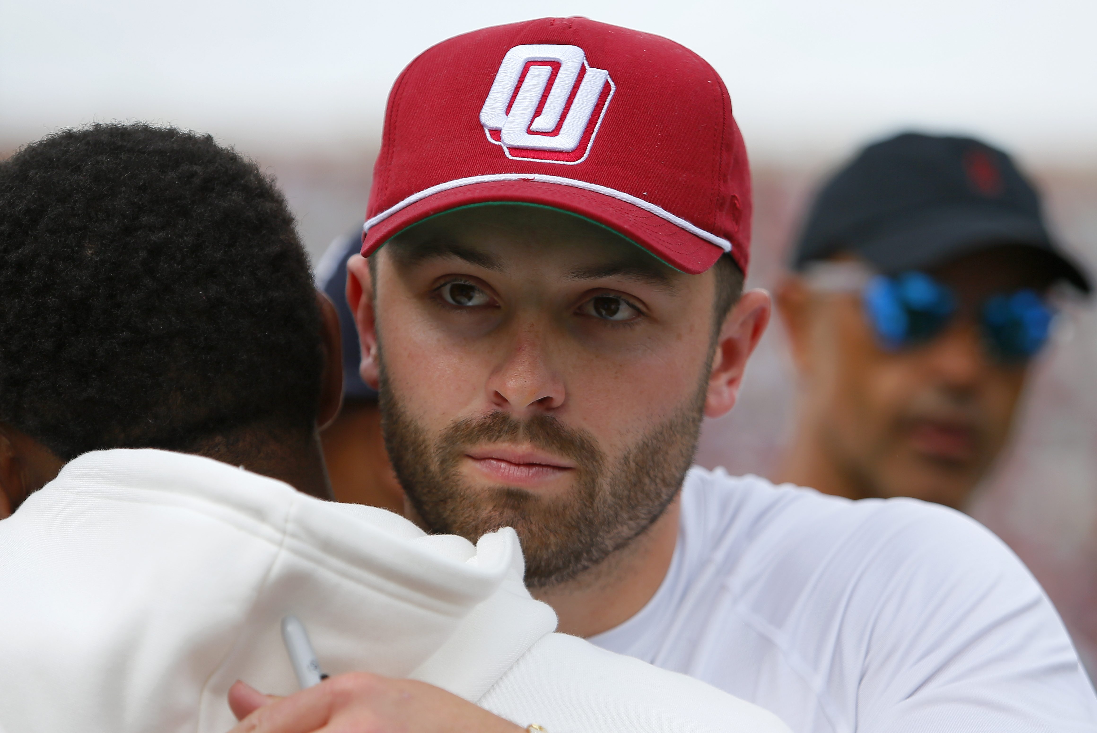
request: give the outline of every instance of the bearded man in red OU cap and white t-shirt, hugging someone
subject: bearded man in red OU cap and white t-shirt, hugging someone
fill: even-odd
[[[513,527],[562,631],[796,731],[1093,731],[1055,610],[972,520],[690,467],[769,319],[749,235],[727,90],[687,48],[569,18],[420,55],[348,264],[407,516]],[[389,720],[317,690],[240,730]]]

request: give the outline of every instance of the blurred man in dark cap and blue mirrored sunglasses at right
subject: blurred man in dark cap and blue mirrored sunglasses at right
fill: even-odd
[[[777,476],[954,508],[1002,451],[1060,283],[1089,279],[979,140],[904,134],[822,190],[777,301],[800,374]]]

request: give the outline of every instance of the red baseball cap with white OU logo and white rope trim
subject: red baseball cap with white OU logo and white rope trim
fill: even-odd
[[[695,274],[750,253],[750,170],[720,76],[672,41],[544,18],[443,41],[388,95],[362,255],[444,211],[578,214]]]

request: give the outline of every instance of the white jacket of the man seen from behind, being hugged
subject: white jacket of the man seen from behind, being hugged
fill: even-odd
[[[293,613],[328,674],[412,677],[550,733],[788,730],[553,633],[521,577],[511,529],[473,546],[195,455],[88,453],[0,521],[0,729],[224,733],[236,679],[297,688]]]

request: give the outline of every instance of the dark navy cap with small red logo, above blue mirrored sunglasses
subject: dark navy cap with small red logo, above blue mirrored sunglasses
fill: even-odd
[[[882,272],[932,268],[996,245],[1047,252],[1084,293],[1089,277],[1051,238],[1008,155],[970,137],[905,133],[870,145],[819,191],[793,267],[856,253]]]

